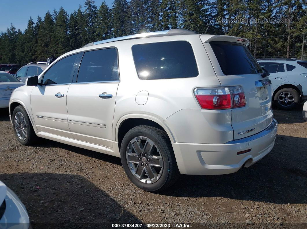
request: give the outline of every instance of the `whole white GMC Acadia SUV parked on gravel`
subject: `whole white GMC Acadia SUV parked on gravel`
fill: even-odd
[[[10,98],[23,145],[37,136],[121,157],[146,191],[181,174],[227,174],[272,150],[272,88],[246,39],[184,29],[87,44]]]

